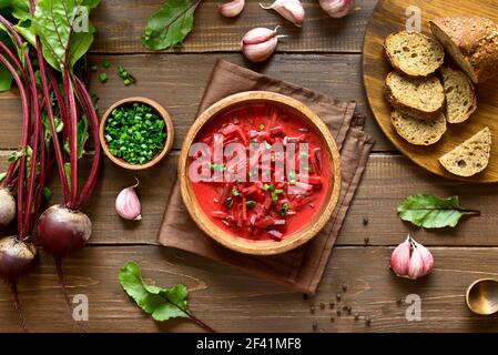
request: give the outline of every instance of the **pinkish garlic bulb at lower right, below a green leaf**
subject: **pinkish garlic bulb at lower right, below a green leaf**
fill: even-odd
[[[410,235],[390,255],[390,268],[400,277],[418,278],[428,275],[433,266],[433,254]]]

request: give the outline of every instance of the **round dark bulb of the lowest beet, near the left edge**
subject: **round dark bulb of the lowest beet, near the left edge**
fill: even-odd
[[[29,274],[37,263],[37,247],[22,242],[17,235],[0,240],[0,277],[16,282]]]

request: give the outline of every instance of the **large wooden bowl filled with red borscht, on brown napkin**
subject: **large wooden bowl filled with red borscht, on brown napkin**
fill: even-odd
[[[341,158],[325,123],[292,98],[243,92],[204,111],[182,148],[179,178],[195,223],[222,245],[270,255],[331,219]]]

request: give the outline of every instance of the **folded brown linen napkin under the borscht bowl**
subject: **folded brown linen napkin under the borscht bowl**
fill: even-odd
[[[341,150],[343,185],[338,205],[324,230],[307,244],[281,255],[252,256],[225,248],[204,235],[186,211],[177,183],[166,205],[157,240],[165,246],[237,266],[258,277],[314,294],[327,265],[346,212],[365,170],[373,138],[363,132],[363,120],[354,115],[355,102],[275,80],[224,60],[214,67],[197,113],[231,94],[264,90],[292,97],[307,104],[329,126]]]

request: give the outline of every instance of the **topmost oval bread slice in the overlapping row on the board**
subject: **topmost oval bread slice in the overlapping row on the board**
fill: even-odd
[[[393,68],[410,77],[427,77],[445,61],[443,45],[419,32],[392,33],[384,48]]]

